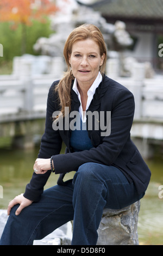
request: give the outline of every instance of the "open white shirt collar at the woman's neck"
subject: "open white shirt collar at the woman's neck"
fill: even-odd
[[[87,110],[89,108],[90,103],[93,99],[93,95],[95,94],[96,88],[99,86],[101,81],[102,81],[102,75],[101,75],[101,72],[98,72],[98,76],[96,77],[95,81],[92,83],[92,86],[90,87],[90,89],[87,91],[87,103],[86,103],[86,109],[85,110]],[[80,118],[82,119],[83,123],[85,123],[86,122],[86,115],[85,115],[85,113],[83,113],[83,107],[82,107],[81,97],[80,97],[80,93],[79,93],[79,90],[78,90],[77,79],[76,78],[74,80],[72,89],[78,95],[78,99],[80,101],[80,107],[79,107]]]

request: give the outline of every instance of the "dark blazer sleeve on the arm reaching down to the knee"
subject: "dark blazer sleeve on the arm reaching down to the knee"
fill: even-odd
[[[61,150],[62,139],[59,135],[59,132],[54,131],[52,127],[53,112],[58,110],[58,105],[56,103],[57,100],[55,99],[56,97],[53,93],[54,86],[55,82],[52,84],[48,93],[45,132],[41,139],[38,158],[48,159],[53,155],[59,154]],[[43,192],[43,187],[45,186],[50,174],[51,170],[48,170],[45,174],[35,174],[34,172],[32,179],[26,186],[24,197],[35,202],[39,201],[40,196]]]

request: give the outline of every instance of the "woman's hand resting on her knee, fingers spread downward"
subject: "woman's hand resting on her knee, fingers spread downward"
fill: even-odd
[[[23,208],[29,206],[30,204],[32,204],[33,201],[27,199],[26,197],[23,196],[23,194],[20,194],[19,196],[15,197],[8,205],[8,215],[10,215],[10,211],[11,208],[16,205],[16,204],[20,204],[20,206],[17,208],[15,215],[19,215],[21,213],[21,211],[23,210]]]

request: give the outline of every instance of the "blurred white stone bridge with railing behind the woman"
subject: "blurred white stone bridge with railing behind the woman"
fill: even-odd
[[[17,145],[32,147],[33,136],[41,136],[45,127],[49,87],[64,70],[61,58],[53,58],[57,75],[54,72],[32,75],[31,62],[25,64],[23,72],[20,72],[23,63],[19,63],[21,66],[17,64],[12,75],[0,76],[0,146],[5,138],[12,142],[14,138]],[[148,157],[151,144],[163,146],[163,76],[142,78],[141,64],[134,70],[132,77],[110,77],[134,94],[136,108],[131,137],[143,156]]]

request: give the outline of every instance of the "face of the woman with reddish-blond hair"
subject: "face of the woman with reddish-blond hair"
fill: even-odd
[[[77,78],[79,86],[90,87],[92,85],[104,58],[105,54],[100,55],[99,46],[92,39],[74,42],[68,60],[71,64],[72,74]]]

